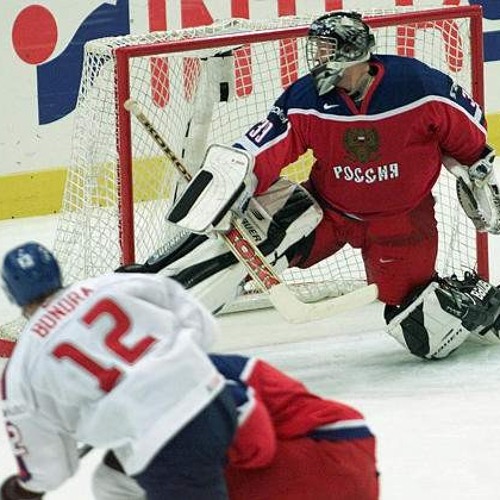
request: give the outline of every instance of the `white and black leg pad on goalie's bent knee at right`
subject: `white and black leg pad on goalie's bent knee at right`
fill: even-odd
[[[445,358],[469,337],[460,318],[446,312],[436,295],[437,282],[430,283],[401,313],[387,325],[387,330],[412,354]]]

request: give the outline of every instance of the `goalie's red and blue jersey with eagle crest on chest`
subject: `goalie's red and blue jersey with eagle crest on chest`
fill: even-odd
[[[443,155],[470,165],[486,143],[481,108],[451,78],[411,58],[370,60],[374,82],[358,109],[338,88],[318,97],[307,75],[237,146],[255,155],[257,192],[308,149],[313,193],[362,220],[406,213],[436,182]]]

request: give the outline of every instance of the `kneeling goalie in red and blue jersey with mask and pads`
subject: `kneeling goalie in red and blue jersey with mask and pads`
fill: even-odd
[[[146,267],[163,267],[216,311],[246,275],[210,237],[236,214],[278,271],[309,268],[348,244],[359,249],[388,333],[416,356],[446,357],[471,336],[497,342],[500,291],[473,270],[435,271],[432,188],[443,164],[457,177],[458,199],[476,229],[500,233],[483,110],[448,75],[374,48],[359,13],[314,20],[309,73],[234,144],[253,168],[234,178],[225,171],[219,183],[202,168],[169,215],[191,234]],[[308,150],[315,160],[304,186],[281,179]],[[229,179],[233,187],[221,189]]]

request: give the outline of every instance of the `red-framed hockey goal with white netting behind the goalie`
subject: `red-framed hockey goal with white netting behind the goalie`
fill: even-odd
[[[194,173],[206,146],[231,144],[264,118],[279,94],[307,72],[311,17],[227,20],[210,26],[89,42],[77,104],[55,252],[74,281],[144,262],[175,244],[164,217],[184,181],[123,103],[135,99]],[[482,15],[477,6],[365,13],[376,52],[416,57],[450,74],[483,104]],[[284,170],[307,177],[305,154]],[[487,238],[476,234],[443,169],[434,189],[441,274],[488,275]],[[366,281],[350,247],[305,270],[282,273],[300,293],[342,294]],[[245,287],[252,289],[251,284]]]

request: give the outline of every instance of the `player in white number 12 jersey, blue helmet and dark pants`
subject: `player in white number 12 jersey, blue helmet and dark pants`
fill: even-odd
[[[112,449],[149,499],[226,499],[223,463],[236,425],[206,355],[215,323],[174,281],[110,274],[62,286],[38,243],[2,267],[28,324],[2,381],[19,472],[3,500],[37,499],[78,467],[78,444]]]

